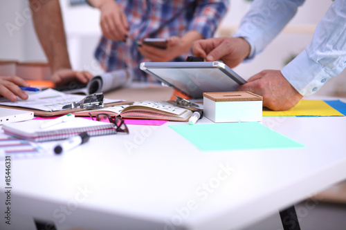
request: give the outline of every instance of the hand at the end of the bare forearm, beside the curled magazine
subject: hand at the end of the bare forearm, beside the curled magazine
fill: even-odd
[[[75,71],[69,68],[62,68],[53,73],[52,82],[55,86],[64,86],[73,81],[86,84],[91,78],[93,78],[93,75],[88,71]]]

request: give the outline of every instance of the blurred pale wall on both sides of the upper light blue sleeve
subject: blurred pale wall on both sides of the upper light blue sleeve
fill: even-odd
[[[297,55],[311,41],[318,21],[325,15],[330,4],[330,0],[307,0],[289,25],[264,52],[250,63],[237,66],[235,70],[244,75],[244,78],[248,78],[263,69],[282,68],[287,58]],[[248,1],[232,1],[230,10],[219,27],[218,36],[233,35],[250,6],[251,3]]]

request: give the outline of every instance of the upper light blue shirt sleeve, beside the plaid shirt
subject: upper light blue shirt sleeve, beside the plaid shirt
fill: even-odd
[[[276,37],[305,0],[255,0],[233,37],[243,37],[251,46],[253,59]]]

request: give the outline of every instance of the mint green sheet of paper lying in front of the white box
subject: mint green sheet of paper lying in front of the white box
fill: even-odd
[[[170,128],[202,151],[304,147],[258,122],[170,125]]]

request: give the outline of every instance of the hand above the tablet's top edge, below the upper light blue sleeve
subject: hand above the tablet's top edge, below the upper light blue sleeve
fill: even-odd
[[[192,46],[195,57],[206,61],[221,60],[233,68],[250,54],[250,45],[241,37],[217,37],[195,41]]]

